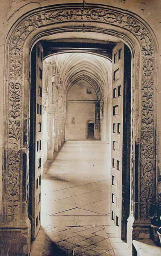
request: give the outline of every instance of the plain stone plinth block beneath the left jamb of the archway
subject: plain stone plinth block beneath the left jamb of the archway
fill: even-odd
[[[0,227],[0,256],[30,255],[30,225],[20,229]]]

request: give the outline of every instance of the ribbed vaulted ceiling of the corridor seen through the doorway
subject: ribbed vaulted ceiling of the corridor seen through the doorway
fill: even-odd
[[[90,53],[62,53],[48,57],[46,62],[56,64],[66,93],[80,79],[89,82],[98,99],[109,93],[112,63],[104,57]]]

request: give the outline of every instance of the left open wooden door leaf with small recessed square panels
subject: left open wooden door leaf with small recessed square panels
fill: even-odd
[[[32,240],[41,224],[42,79],[43,47],[38,43],[32,50],[30,80],[29,218]]]

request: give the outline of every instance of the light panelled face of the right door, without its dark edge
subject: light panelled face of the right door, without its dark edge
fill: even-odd
[[[119,55],[121,51],[121,56]],[[111,219],[120,231],[122,209],[122,123],[123,123],[123,52],[124,44],[113,49],[112,145],[111,145]],[[115,182],[115,185],[113,183]]]

